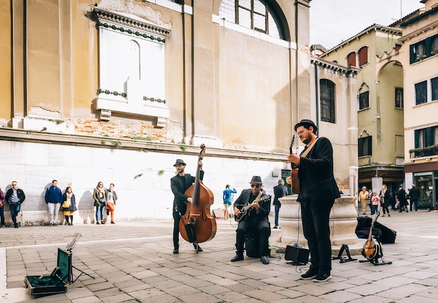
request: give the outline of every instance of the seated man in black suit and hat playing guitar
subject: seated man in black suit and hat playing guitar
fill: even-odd
[[[271,228],[269,225],[268,215],[271,209],[271,197],[262,193],[262,178],[253,176],[251,178],[251,189],[243,190],[241,195],[234,202],[234,213],[237,218],[243,215],[241,211],[243,206],[252,207],[247,209],[239,220],[236,230],[236,255],[231,262],[243,260],[243,244],[245,242],[246,232],[256,232],[260,239],[260,261],[263,264],[269,264],[267,256],[269,255],[269,234]],[[259,203],[260,202],[260,203]]]

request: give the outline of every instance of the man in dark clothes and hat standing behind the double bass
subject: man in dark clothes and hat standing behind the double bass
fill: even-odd
[[[202,170],[202,161],[198,162],[199,165],[199,180],[202,181],[204,178],[204,170]],[[179,222],[181,220],[181,216],[185,214],[187,210],[186,202],[192,203],[192,197],[188,197],[185,195],[185,191],[192,186],[195,182],[195,177],[190,176],[190,174],[185,174],[185,162],[181,159],[176,159],[174,164],[176,168],[176,172],[178,173],[176,176],[170,179],[170,188],[175,195],[174,198],[174,253],[179,252]],[[197,244],[193,244],[193,247],[197,251],[202,251],[201,246]]]

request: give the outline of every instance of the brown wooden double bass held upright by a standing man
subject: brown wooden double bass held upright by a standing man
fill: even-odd
[[[205,154],[205,145],[201,145],[198,161]],[[199,179],[200,166],[198,163],[195,183],[185,191],[185,195],[192,197],[192,202],[185,202],[187,210],[181,216],[179,230],[181,237],[197,246],[197,244],[209,241],[216,235],[216,219],[211,216],[210,206],[214,202],[213,192],[206,188]]]

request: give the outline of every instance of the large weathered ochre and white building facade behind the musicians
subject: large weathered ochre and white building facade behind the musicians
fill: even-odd
[[[171,218],[172,165],[196,171],[201,143],[216,206],[226,184],[246,188],[252,175],[271,192],[293,125],[319,117],[310,2],[1,1],[0,184],[26,192],[24,223],[47,222],[54,178],[73,188],[80,222],[93,221],[98,181],[115,183],[120,220]],[[320,135],[348,184],[357,144],[332,136],[345,127],[338,113]]]

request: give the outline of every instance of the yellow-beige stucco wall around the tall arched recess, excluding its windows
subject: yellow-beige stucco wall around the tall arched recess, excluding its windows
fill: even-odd
[[[402,162],[400,136],[404,135],[403,111],[395,108],[395,87],[403,87],[403,68],[395,64],[400,59],[394,49],[400,34],[400,31],[397,34],[397,30],[387,28],[363,31],[323,57],[328,61],[337,60],[340,64],[346,64],[350,52],[357,53],[363,46],[368,47],[368,62],[360,66],[356,91],[351,96],[352,110],[356,111],[358,119],[355,140],[368,134],[373,136],[372,156],[360,157],[359,169],[381,165],[402,169],[400,163],[397,164],[397,158]],[[359,110],[358,95],[367,90],[369,108]]]

